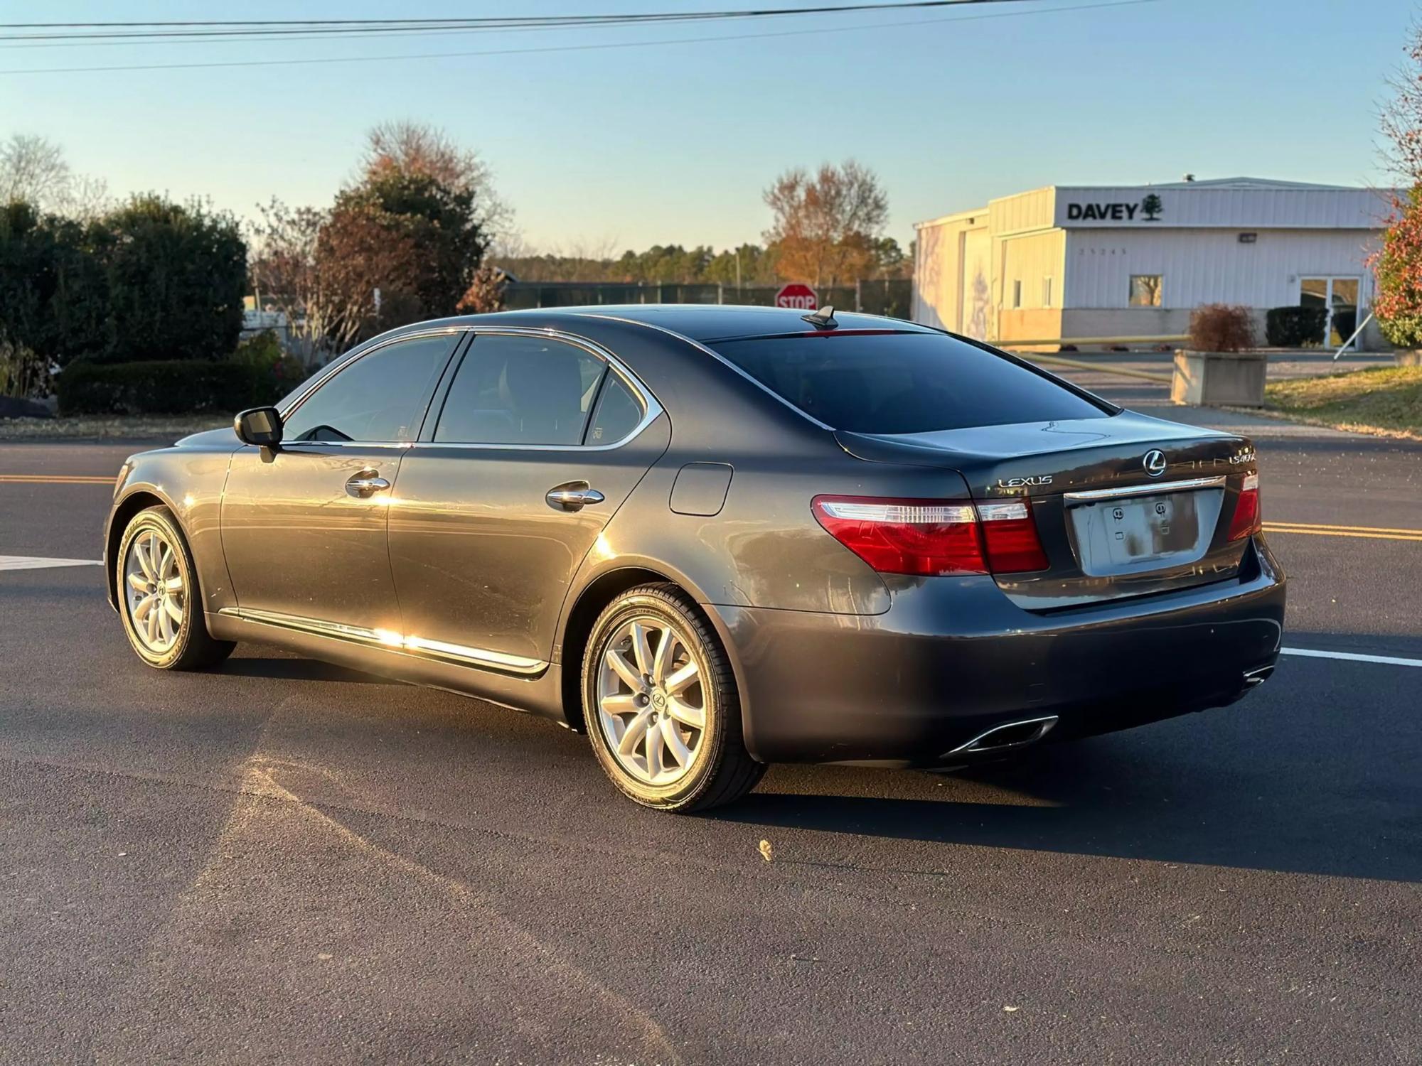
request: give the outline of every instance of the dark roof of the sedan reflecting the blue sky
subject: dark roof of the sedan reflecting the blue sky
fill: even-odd
[[[587,307],[539,307],[520,311],[496,311],[445,318],[441,323],[481,325],[498,324],[539,327],[573,327],[580,318],[613,318],[656,325],[690,337],[694,341],[728,341],[748,337],[816,333],[805,321],[806,311],[785,307],[749,307],[741,304],[594,304]],[[903,318],[877,314],[835,311],[839,330],[894,330],[903,333],[936,333]]]

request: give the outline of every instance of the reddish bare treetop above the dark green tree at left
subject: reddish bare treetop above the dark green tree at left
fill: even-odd
[[[434,178],[455,192],[474,196],[475,222],[485,232],[499,235],[513,226],[513,212],[499,199],[493,173],[479,154],[424,122],[401,119],[371,126],[357,168],[357,182],[391,172]]]

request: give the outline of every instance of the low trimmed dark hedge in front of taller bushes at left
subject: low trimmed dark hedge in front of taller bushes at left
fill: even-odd
[[[65,415],[186,415],[274,404],[294,381],[216,360],[71,362],[58,377]]]

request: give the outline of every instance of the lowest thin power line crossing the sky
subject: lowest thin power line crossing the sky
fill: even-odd
[[[951,0],[951,3],[946,4],[937,3],[934,6],[944,7],[944,6],[961,6],[964,3],[1001,3],[1001,1],[1003,0]],[[1008,1],[1022,1],[1022,0],[1008,0]],[[1160,0],[1109,0],[1106,3],[1072,4],[1066,7],[1035,7],[1025,11],[994,11],[991,14],[968,14],[951,18],[916,18],[912,21],[876,23],[872,26],[822,26],[822,27],[808,27],[802,30],[776,30],[769,33],[722,34],[718,37],[671,37],[656,41],[599,41],[590,44],[550,44],[532,48],[486,48],[479,51],[411,53],[405,55],[327,55],[327,57],[307,57],[297,60],[226,60],[226,61],[212,61],[212,63],[115,64],[105,67],[34,67],[21,70],[0,70],[0,75],[95,74],[95,72],[152,71],[152,70],[213,70],[225,67],[293,67],[303,64],[314,65],[314,64],[333,64],[333,63],[385,63],[397,60],[445,60],[445,58],[471,58],[481,55],[530,55],[530,54],[560,53],[560,51],[600,51],[603,48],[654,48],[668,44],[712,44],[718,41],[747,41],[747,40],[759,40],[768,37],[801,37],[806,34],[825,34],[825,33],[856,33],[869,30],[897,28],[904,26],[930,26],[939,23],[971,23],[988,18],[1017,18],[1028,14],[1089,11],[1103,7],[1135,7],[1138,4],[1153,4],[1153,3],[1160,3]],[[900,4],[900,7],[904,6],[910,4]],[[924,4],[912,4],[912,6],[924,6]],[[872,4],[869,7],[879,7],[879,4]]]

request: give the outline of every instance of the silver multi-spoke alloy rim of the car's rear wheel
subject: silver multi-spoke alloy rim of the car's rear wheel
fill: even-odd
[[[701,662],[670,623],[640,615],[606,645],[597,669],[597,716],[619,766],[644,785],[674,785],[704,745]]]

